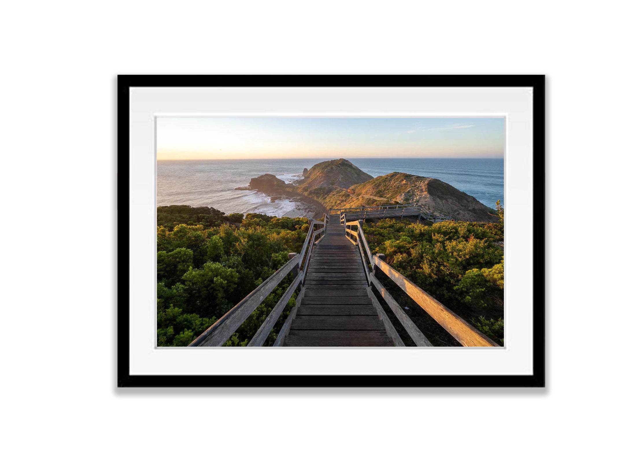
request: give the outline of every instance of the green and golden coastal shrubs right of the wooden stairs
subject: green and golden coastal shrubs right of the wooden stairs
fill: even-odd
[[[498,204],[496,224],[387,218],[363,228],[371,252],[503,345],[503,215]]]

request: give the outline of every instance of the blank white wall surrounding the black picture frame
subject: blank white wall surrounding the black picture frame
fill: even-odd
[[[635,305],[627,5],[4,5],[3,453],[621,460],[633,438]],[[548,388],[116,390],[118,73],[547,74]]]

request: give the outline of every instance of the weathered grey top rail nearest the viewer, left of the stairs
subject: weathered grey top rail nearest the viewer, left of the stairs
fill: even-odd
[[[197,339],[192,341],[190,346],[219,347],[232,336],[233,332],[243,324],[251,313],[261,304],[273,288],[277,287],[280,281],[285,278],[291,269],[300,263],[300,255],[296,254],[293,259],[275,271],[270,278],[263,281],[258,288],[245,296],[242,301],[228,310],[223,317],[205,330]]]

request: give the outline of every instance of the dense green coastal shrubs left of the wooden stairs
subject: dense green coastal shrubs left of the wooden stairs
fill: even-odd
[[[212,208],[158,208],[158,346],[189,345],[283,266],[288,253],[300,252],[307,218],[242,216]],[[286,276],[225,345],[247,345],[289,283],[291,276]],[[284,315],[296,304],[295,296]],[[275,341],[273,333],[265,345]]]

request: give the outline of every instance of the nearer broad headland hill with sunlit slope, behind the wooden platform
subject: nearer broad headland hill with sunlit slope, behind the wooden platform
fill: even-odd
[[[377,204],[415,203],[429,211],[468,222],[497,222],[497,213],[448,183],[436,178],[400,172],[353,185],[347,192],[333,192],[323,201],[328,208],[350,208]],[[494,215],[491,215],[494,214]]]

